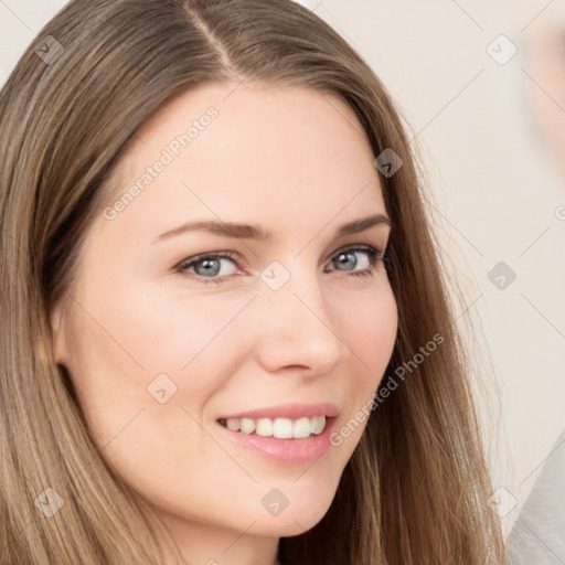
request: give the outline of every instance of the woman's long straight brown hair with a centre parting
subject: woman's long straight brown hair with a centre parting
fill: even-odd
[[[374,156],[402,159],[381,172],[399,317],[382,387],[394,375],[397,387],[371,411],[328,513],[281,539],[281,561],[502,563],[467,358],[401,110],[345,41],[290,0],[72,0],[1,90],[0,559],[160,563],[156,523],[105,465],[53,362],[50,316],[136,130],[182,92],[242,81],[338,95]],[[411,367],[403,382],[401,366]],[[50,518],[38,510],[42,493],[55,495],[46,488],[64,503]]]

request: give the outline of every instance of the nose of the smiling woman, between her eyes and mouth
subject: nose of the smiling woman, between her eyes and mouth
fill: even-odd
[[[326,374],[339,364],[349,349],[340,335],[344,328],[340,310],[331,308],[330,299],[315,277],[292,275],[278,290],[262,289],[255,305],[256,352],[265,370]]]

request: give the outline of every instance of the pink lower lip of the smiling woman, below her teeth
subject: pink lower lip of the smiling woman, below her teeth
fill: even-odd
[[[256,434],[243,434],[242,431],[232,431],[220,423],[216,424],[226,437],[241,447],[279,463],[301,463],[313,461],[330,449],[330,434],[335,420],[337,418],[327,418],[321,434],[301,439],[278,439]]]

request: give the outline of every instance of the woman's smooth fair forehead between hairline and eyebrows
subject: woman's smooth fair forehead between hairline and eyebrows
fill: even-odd
[[[147,225],[203,215],[347,220],[367,206],[384,212],[373,158],[354,111],[337,95],[206,84],[140,128],[118,162],[108,203],[127,196],[120,222]]]

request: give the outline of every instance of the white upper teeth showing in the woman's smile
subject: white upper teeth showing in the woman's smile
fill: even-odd
[[[253,434],[264,437],[276,437],[278,439],[302,439],[310,435],[319,435],[326,427],[326,416],[313,416],[311,418],[227,418],[225,427],[232,431]]]

